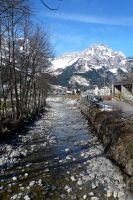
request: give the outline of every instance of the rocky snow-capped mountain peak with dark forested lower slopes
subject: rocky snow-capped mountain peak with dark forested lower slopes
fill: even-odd
[[[94,44],[82,52],[65,54],[52,61],[49,73],[58,84],[72,87],[111,83],[128,73],[128,60],[121,52],[107,46]]]

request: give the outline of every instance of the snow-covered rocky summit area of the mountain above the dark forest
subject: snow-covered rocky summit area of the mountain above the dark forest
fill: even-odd
[[[107,66],[108,68],[126,67],[127,60],[123,53],[114,52],[112,49],[105,45],[92,45],[90,48],[85,49],[82,52],[76,52],[71,54],[65,54],[59,58],[56,58],[52,62],[52,67],[49,68],[50,72],[54,72],[59,69],[64,69],[75,62],[78,62],[75,66],[77,70],[81,72],[89,71],[91,66]],[[78,69],[78,65],[81,66]]]

